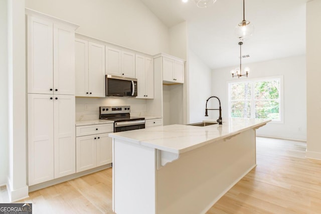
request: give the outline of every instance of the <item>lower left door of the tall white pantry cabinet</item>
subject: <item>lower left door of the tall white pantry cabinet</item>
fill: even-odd
[[[28,94],[29,185],[54,179],[53,95]]]

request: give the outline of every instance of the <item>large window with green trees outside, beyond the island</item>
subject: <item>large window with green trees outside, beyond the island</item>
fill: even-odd
[[[230,117],[283,122],[282,77],[230,82],[228,85]]]

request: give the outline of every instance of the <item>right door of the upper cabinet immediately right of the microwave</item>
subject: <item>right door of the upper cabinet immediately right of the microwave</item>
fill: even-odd
[[[147,99],[154,98],[154,62],[145,57],[145,94]]]

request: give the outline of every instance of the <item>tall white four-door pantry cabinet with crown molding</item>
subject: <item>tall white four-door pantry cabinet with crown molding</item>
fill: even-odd
[[[76,172],[75,30],[26,9],[29,185]]]

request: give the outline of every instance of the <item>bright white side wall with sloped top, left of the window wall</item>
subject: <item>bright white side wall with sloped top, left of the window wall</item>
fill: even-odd
[[[189,50],[189,110],[188,123],[201,122],[205,117],[206,99],[213,96],[211,93],[211,77],[212,72],[202,60]]]

